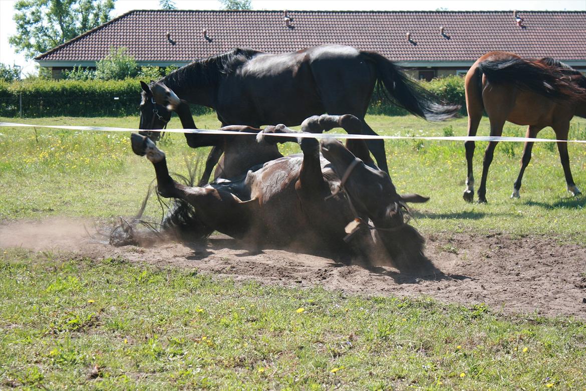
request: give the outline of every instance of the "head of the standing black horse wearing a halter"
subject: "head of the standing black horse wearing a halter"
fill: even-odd
[[[152,130],[165,128],[171,120],[171,111],[167,107],[168,104],[165,104],[165,94],[161,93],[161,86],[164,87],[164,84],[151,81],[151,87],[149,87],[147,83],[141,81],[142,93],[141,106],[139,107],[141,120],[138,128],[145,131],[139,132],[139,134],[147,136],[152,141],[159,140],[161,136],[161,132],[152,132]]]

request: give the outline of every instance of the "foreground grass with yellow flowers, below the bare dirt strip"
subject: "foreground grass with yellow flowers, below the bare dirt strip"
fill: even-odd
[[[0,387],[584,389],[586,325],[485,305],[0,257]]]

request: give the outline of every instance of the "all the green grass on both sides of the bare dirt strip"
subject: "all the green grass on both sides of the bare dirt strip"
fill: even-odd
[[[137,117],[22,121],[138,124]],[[465,118],[445,124],[413,117],[370,116],[367,121],[380,134],[466,133]],[[196,118],[196,124],[219,125],[212,115]],[[169,127],[180,127],[176,118]],[[485,119],[480,134],[487,128]],[[521,127],[506,125],[505,135],[523,134]],[[553,131],[540,137],[551,138]],[[570,138],[586,139],[585,120],[573,121]],[[180,174],[187,174],[187,162],[201,157],[180,134],[161,144],[171,170]],[[477,181],[485,145],[477,143]],[[387,141],[386,148],[398,191],[431,196],[413,221],[424,234],[500,232],[586,243],[586,197],[565,191],[553,143],[534,147],[518,200],[509,196],[522,144],[500,144],[489,175],[488,205],[462,200],[461,142]],[[292,144],[283,150],[298,151]],[[584,144],[570,144],[570,163],[584,191]],[[0,219],[131,216],[154,178],[152,165],[130,151],[127,134],[42,128],[0,128],[0,171]],[[154,200],[147,212],[155,220],[161,216]],[[483,304],[237,284],[197,270],[22,249],[0,253],[0,295],[0,389],[586,386],[584,322],[502,315]]]

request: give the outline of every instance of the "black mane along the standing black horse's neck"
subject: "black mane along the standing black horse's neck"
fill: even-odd
[[[182,86],[188,89],[207,86],[219,81],[222,74],[234,72],[241,64],[259,53],[263,52],[235,47],[229,52],[217,56],[195,60],[169,73],[161,81],[171,89],[173,89],[172,86]]]

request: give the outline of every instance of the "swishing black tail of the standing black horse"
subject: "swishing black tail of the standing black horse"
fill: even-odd
[[[361,52],[366,59],[376,64],[377,83],[382,83],[385,96],[409,113],[428,121],[444,121],[458,115],[460,106],[448,104],[426,90],[417,81],[403,72],[386,57],[376,52]],[[388,94],[386,93],[388,91]]]

